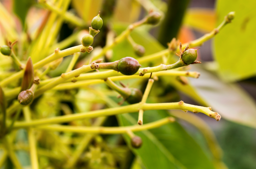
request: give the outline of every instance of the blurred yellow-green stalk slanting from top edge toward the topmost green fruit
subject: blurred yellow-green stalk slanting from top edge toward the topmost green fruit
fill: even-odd
[[[48,10],[51,10],[59,15],[63,15],[63,18],[67,21],[70,22],[78,27],[85,27],[86,24],[85,22],[81,19],[73,15],[72,13],[66,11],[64,14],[62,14],[62,10],[57,8],[54,4],[48,1],[43,1],[41,3],[44,7],[46,7]]]

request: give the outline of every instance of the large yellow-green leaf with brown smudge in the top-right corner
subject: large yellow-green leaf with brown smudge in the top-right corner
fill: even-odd
[[[226,81],[245,79],[256,73],[255,6],[255,0],[217,1],[216,25],[229,12],[236,12],[232,23],[220,30],[214,41],[214,57],[219,64],[219,74]]]

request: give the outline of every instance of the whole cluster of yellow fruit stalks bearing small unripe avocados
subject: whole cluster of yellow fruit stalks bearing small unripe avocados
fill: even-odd
[[[16,72],[15,74],[3,79],[0,82],[0,85],[1,85],[0,95],[2,98],[1,99],[1,111],[2,111],[1,118],[3,119],[1,123],[1,138],[4,139],[5,136],[8,133],[10,133],[12,129],[25,128],[25,127],[30,127],[31,130],[32,129],[34,130],[35,128],[38,130],[70,131],[70,132],[77,132],[77,133],[97,133],[97,134],[126,133],[131,138],[132,147],[139,148],[142,145],[142,140],[140,137],[136,136],[133,133],[134,131],[147,130],[147,129],[159,127],[166,123],[170,123],[174,121],[174,118],[169,117],[169,118],[161,119],[161,120],[143,125],[143,112],[146,110],[177,109],[177,110],[183,110],[185,112],[187,111],[192,111],[194,113],[201,112],[219,121],[221,118],[220,115],[216,112],[211,111],[212,110],[211,107],[201,107],[201,106],[190,105],[190,104],[183,103],[183,101],[180,101],[178,103],[148,104],[146,103],[146,99],[149,95],[149,91],[154,82],[154,80],[151,79],[151,77],[170,75],[170,76],[187,76],[187,77],[198,78],[199,77],[198,72],[189,72],[189,71],[183,71],[182,69],[177,69],[183,66],[188,66],[190,64],[201,63],[199,61],[196,61],[197,50],[188,49],[189,46],[195,47],[195,46],[202,45],[203,42],[214,37],[220,31],[220,29],[222,29],[227,23],[230,23],[233,18],[234,18],[234,12],[230,12],[227,16],[225,16],[224,21],[216,29],[212,30],[212,32],[208,34],[205,34],[203,37],[199,39],[191,41],[189,44],[182,46],[182,44],[178,43],[178,41],[176,41],[176,39],[174,38],[168,44],[169,46],[168,49],[162,50],[155,54],[151,54],[149,56],[141,57],[138,60],[132,57],[125,57],[115,62],[100,63],[102,61],[102,59],[99,59],[101,56],[106,54],[108,50],[112,49],[117,43],[122,42],[126,38],[132,44],[135,50],[135,53],[138,56],[143,56],[145,52],[144,47],[139,44],[136,44],[132,40],[129,34],[134,28],[138,26],[141,26],[143,24],[155,25],[160,21],[161,14],[159,14],[158,12],[151,11],[141,21],[135,22],[130,26],[128,26],[128,28],[124,30],[124,32],[122,32],[118,37],[115,38],[114,42],[105,46],[99,54],[91,57],[90,61],[88,62],[88,65],[83,65],[82,67],[75,70],[72,70],[72,69],[75,62],[78,59],[79,52],[90,53],[90,51],[93,50],[93,47],[90,45],[93,43],[94,36],[99,33],[99,29],[103,25],[103,20],[100,18],[99,15],[93,18],[91,22],[91,27],[89,27],[90,29],[89,34],[86,34],[82,38],[82,45],[74,46],[65,50],[60,50],[59,48],[57,48],[53,54],[35,63],[34,65],[31,61],[31,58],[28,58],[26,65],[20,62],[18,57],[15,55],[14,50],[12,49],[16,41],[9,42],[7,45],[1,46],[0,48],[1,53],[3,55],[12,57],[14,63],[21,69],[19,72]],[[140,68],[141,67],[140,63],[145,63],[145,62],[155,60],[157,58],[161,58],[162,55],[175,54],[177,51],[179,52],[179,54],[177,54],[179,57],[179,60],[174,64],[171,64],[171,65],[161,64],[155,67]],[[72,55],[72,54],[73,54],[72,61],[70,62],[67,68],[67,71],[65,73],[61,74],[61,76],[59,77],[50,78],[40,82],[40,78],[48,74],[49,71],[56,69],[56,67],[61,63],[63,57]],[[34,77],[34,70],[37,70],[47,64],[49,65],[48,68],[40,75],[40,77]],[[82,74],[91,70],[98,70],[98,69],[107,69],[107,71],[101,71],[101,72],[96,71],[93,73]],[[171,69],[176,69],[176,70],[171,70]],[[136,76],[141,76],[141,78],[149,78],[144,94],[142,94],[142,92],[136,88],[128,88],[122,83],[121,85],[123,87],[120,87],[113,82],[113,80],[136,78]],[[10,82],[12,82],[14,79],[18,79],[22,77],[23,77],[23,80],[20,87],[16,87],[14,89],[7,90],[7,91],[3,90],[3,88],[6,87],[8,84],[10,84]],[[70,84],[71,82],[88,80],[88,79],[98,79],[96,81],[87,81],[88,84],[97,84],[101,82],[106,83],[106,85],[108,85],[111,89],[118,92],[120,96],[124,98],[123,101],[127,101],[130,105],[123,106],[123,107],[114,107],[114,108],[108,108],[103,110],[90,111],[90,112],[79,113],[79,114],[71,114],[71,115],[63,115],[63,116],[57,116],[52,118],[31,120],[29,107],[26,105],[30,105],[33,99],[44,94],[45,91],[48,91],[61,83],[63,84],[61,84],[62,86],[60,86],[60,88],[65,89],[66,87],[65,84]],[[56,89],[58,89],[58,87],[56,87]],[[17,98],[17,95],[18,95],[18,102],[21,105],[24,105],[23,112],[26,119],[25,122],[21,122],[21,121],[15,122],[17,117],[19,116],[18,115],[19,113],[16,113],[12,121],[6,120],[5,97],[7,97],[8,99],[8,97],[10,98],[15,96]],[[96,118],[100,116],[118,115],[122,113],[132,113],[136,111],[139,112],[139,117],[138,117],[139,125],[128,126],[128,127],[100,127],[99,128],[99,127],[72,127],[72,126],[63,126],[63,125],[51,125],[51,124],[70,122],[70,121],[75,121],[75,120],[85,119],[85,118]],[[33,140],[33,138],[31,139]],[[32,142],[32,140],[30,141]],[[11,153],[11,150],[9,150],[9,155],[10,155],[10,159],[13,160],[15,163],[15,157]]]

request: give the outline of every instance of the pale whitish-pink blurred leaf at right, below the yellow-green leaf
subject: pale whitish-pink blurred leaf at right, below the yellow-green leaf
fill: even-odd
[[[198,65],[191,67],[201,73],[198,79],[190,79],[191,84],[213,111],[227,120],[256,128],[256,104],[250,95],[237,84],[222,82]]]

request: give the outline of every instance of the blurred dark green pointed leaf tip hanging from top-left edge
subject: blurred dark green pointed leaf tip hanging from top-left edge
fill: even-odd
[[[27,11],[33,4],[34,0],[14,0],[13,1],[13,11],[21,20],[23,26],[25,24],[25,19],[27,16]]]

